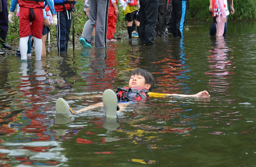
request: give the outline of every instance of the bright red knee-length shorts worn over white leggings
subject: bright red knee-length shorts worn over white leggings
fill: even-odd
[[[19,8],[19,37],[32,36],[42,39],[42,31],[44,26],[44,15],[42,8],[34,8],[35,19],[30,25],[29,8]]]

